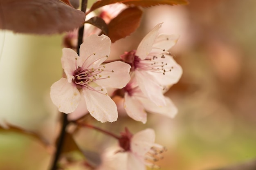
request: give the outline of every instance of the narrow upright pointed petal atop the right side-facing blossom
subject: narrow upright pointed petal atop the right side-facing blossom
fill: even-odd
[[[135,55],[137,55],[141,60],[144,60],[152,50],[153,43],[157,38],[158,30],[161,25],[162,23],[157,24],[139,43]]]

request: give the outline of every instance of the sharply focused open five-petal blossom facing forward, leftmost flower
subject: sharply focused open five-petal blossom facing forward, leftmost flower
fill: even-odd
[[[126,86],[130,65],[120,61],[102,65],[110,53],[110,44],[106,35],[90,35],[80,46],[80,56],[72,49],[63,49],[61,64],[67,78],[55,82],[50,92],[60,112],[74,112],[84,98],[92,117],[101,122],[117,120],[117,106],[105,88]]]

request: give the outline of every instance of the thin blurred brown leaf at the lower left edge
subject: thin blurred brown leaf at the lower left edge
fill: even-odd
[[[44,146],[49,146],[50,145],[49,141],[47,141],[46,139],[43,139],[43,137],[41,137],[36,132],[32,132],[32,131],[29,131],[29,130],[22,129],[21,127],[18,127],[18,126],[13,125],[13,124],[5,123],[4,127],[0,126],[0,132],[20,133],[22,135],[26,135],[26,136],[29,136],[29,137],[32,137],[32,138],[38,140]]]

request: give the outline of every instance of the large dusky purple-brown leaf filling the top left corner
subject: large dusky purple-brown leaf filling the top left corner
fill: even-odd
[[[53,34],[80,27],[85,14],[60,0],[0,0],[0,29]]]

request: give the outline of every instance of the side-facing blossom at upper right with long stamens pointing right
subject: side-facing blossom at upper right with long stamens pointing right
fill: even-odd
[[[132,66],[142,93],[157,106],[166,106],[163,86],[178,82],[182,68],[168,52],[179,38],[178,35],[159,34],[162,24],[157,24],[140,42],[137,50],[120,57]]]

